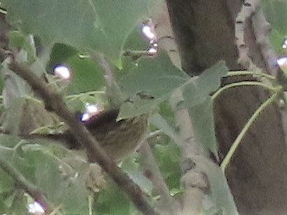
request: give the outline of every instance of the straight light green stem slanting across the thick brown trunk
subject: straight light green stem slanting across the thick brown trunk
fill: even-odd
[[[268,105],[272,104],[272,102],[277,98],[277,96],[278,96],[278,94],[273,94],[264,103],[262,103],[262,105],[260,105],[260,107],[258,107],[258,109],[250,117],[249,121],[247,121],[247,123],[245,124],[244,128],[242,128],[242,131],[240,132],[240,134],[237,136],[237,138],[233,142],[232,146],[230,147],[228,153],[226,154],[225,158],[223,159],[223,161],[222,161],[222,163],[220,165],[221,170],[223,170],[223,172],[226,170],[226,166],[228,165],[228,163],[230,163],[230,160],[231,160],[233,154],[235,154],[235,151],[236,151],[237,147],[239,146],[239,144],[240,144],[241,140],[243,139],[244,135],[246,134],[246,132],[250,128],[251,124],[253,124],[253,122],[256,120],[256,118],[259,116],[259,114],[261,112],[263,112],[263,110]]]

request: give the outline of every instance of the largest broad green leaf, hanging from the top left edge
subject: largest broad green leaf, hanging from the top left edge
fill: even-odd
[[[44,43],[65,43],[80,50],[98,50],[118,61],[124,41],[147,15],[142,0],[3,0],[10,24],[20,22],[27,34]]]

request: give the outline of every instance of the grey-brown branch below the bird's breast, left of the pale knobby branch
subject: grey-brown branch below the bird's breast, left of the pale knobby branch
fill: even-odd
[[[161,195],[159,207],[157,208],[161,209],[161,212],[164,214],[178,214],[180,208],[179,202],[170,195],[168,186],[165,184],[149,144],[144,142],[138,153],[140,154],[140,163],[145,168],[145,175],[152,181],[156,195]]]

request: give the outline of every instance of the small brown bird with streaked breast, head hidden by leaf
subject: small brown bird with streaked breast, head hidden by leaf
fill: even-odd
[[[105,152],[115,160],[120,160],[135,151],[147,130],[147,115],[117,121],[118,114],[118,109],[105,110],[82,122]],[[82,149],[82,144],[70,130],[59,134],[31,134],[24,138],[57,140],[69,149]]]

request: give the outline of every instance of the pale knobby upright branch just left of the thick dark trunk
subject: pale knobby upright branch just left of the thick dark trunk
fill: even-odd
[[[203,210],[204,195],[209,188],[207,175],[198,168],[194,161],[198,157],[205,157],[203,149],[193,136],[193,126],[189,116],[189,110],[179,107],[182,102],[182,91],[175,91],[171,103],[175,110],[175,117],[179,124],[179,135],[183,141],[183,164],[184,175],[182,183],[185,193],[182,204],[182,214],[201,214]]]

